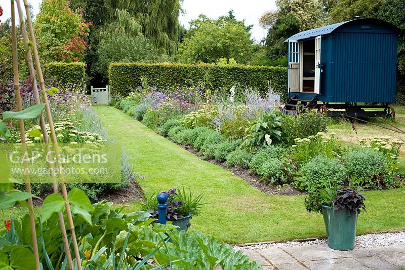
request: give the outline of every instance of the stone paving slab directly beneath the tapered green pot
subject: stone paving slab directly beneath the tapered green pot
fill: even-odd
[[[371,257],[374,255],[365,248],[355,247],[352,250],[340,251],[329,248],[327,244],[285,247],[283,249],[299,261],[338,259],[347,257],[361,258],[361,257]]]

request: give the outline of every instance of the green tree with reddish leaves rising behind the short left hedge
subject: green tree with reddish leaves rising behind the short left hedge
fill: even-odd
[[[84,60],[90,23],[78,10],[71,10],[67,0],[43,1],[33,26],[42,61]]]

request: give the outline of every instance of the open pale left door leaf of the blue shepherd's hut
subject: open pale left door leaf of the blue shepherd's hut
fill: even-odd
[[[288,90],[290,93],[299,92],[300,89],[300,46],[298,41],[289,41],[288,44]]]

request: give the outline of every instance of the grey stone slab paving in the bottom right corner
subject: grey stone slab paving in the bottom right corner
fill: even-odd
[[[405,245],[333,250],[327,244],[243,250],[263,269],[398,270],[405,266]]]

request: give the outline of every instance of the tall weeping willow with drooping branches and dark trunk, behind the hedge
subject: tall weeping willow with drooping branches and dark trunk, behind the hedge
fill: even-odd
[[[116,20],[116,12],[127,11],[141,26],[142,34],[148,38],[161,54],[174,55],[180,35],[179,15],[182,0],[70,0],[72,8],[82,8],[90,26],[90,44],[86,50],[87,72],[92,84],[103,84],[99,73],[100,33],[104,26]]]

